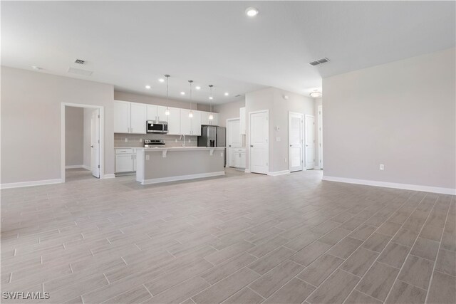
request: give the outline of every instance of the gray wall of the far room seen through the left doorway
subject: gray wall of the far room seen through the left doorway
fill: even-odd
[[[84,162],[84,109],[66,107],[65,110],[65,164],[82,166]]]

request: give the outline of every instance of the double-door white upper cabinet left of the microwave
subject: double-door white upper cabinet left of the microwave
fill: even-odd
[[[114,100],[114,132],[145,134],[147,105]]]

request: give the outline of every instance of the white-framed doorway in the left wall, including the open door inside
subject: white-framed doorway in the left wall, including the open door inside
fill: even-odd
[[[103,107],[61,104],[61,179],[103,178]]]

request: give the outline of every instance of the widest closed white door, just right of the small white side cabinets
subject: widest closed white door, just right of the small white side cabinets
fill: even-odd
[[[269,172],[269,118],[268,112],[254,112],[249,115],[250,125],[250,172]]]

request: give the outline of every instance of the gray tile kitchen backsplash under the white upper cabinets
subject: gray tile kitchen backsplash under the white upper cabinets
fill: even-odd
[[[144,140],[165,140],[167,147],[180,147],[182,141],[179,140],[180,135],[165,135],[159,133],[149,134],[114,134],[114,147],[144,147]],[[127,141],[125,142],[125,139]],[[176,142],[177,140],[177,142]],[[190,140],[190,142],[189,142]],[[197,147],[197,136],[185,136],[185,145],[187,147]]]

